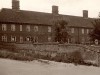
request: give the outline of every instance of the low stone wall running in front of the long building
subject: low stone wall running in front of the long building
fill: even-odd
[[[8,48],[10,44],[4,47]],[[7,46],[7,47],[6,47]],[[45,44],[11,44],[10,47],[16,50],[32,50],[41,55],[56,56],[58,53],[69,53],[80,51],[84,61],[91,62],[100,66],[100,47],[99,46],[85,46],[80,44],[58,44],[58,43],[45,43]],[[0,46],[2,47],[2,46]]]

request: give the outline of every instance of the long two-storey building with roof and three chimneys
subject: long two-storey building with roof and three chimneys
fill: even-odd
[[[54,42],[54,21],[68,21],[70,43],[89,42],[89,32],[93,29],[92,18],[83,10],[83,17],[59,14],[58,6],[52,6],[52,13],[20,10],[19,0],[12,0],[12,9],[0,11],[1,42]]]

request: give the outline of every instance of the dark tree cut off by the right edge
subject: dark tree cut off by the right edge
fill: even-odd
[[[91,40],[92,41],[94,41],[95,39],[100,40],[100,19],[94,20],[92,24],[94,25],[94,29],[90,33]]]

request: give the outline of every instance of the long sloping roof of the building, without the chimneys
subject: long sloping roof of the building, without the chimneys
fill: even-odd
[[[89,27],[93,28],[92,19],[71,15],[54,15],[52,13],[12,10],[3,8],[0,12],[0,22],[16,22],[29,24],[53,25],[53,21],[57,18],[63,18],[68,21],[69,26],[73,27]]]

